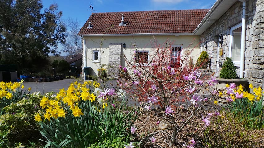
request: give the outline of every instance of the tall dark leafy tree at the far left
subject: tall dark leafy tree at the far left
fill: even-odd
[[[34,72],[48,64],[48,53],[65,43],[62,12],[52,4],[41,13],[41,0],[0,0],[0,64]],[[58,12],[57,12],[58,11]]]

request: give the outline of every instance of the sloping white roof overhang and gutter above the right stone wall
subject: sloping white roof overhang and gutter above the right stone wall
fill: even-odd
[[[217,0],[206,16],[201,20],[201,23],[193,31],[194,35],[201,35],[208,29],[216,20],[218,20],[237,0]]]

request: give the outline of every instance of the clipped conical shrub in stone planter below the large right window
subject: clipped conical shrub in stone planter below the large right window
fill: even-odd
[[[220,70],[220,77],[216,78],[219,82],[216,88],[225,89],[226,84],[235,83],[236,86],[240,84],[248,89],[248,79],[238,78],[236,74],[236,67],[232,61],[232,58],[227,57],[223,63],[222,69]]]

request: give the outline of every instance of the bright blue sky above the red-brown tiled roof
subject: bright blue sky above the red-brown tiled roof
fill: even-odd
[[[43,8],[57,3],[63,20],[77,19],[80,27],[93,13],[149,10],[209,9],[216,0],[42,0]]]

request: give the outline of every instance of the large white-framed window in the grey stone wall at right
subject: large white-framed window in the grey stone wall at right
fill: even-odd
[[[242,23],[230,29],[229,57],[235,66],[240,66]]]

